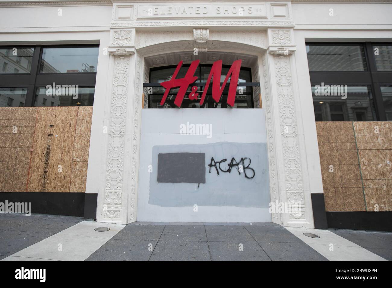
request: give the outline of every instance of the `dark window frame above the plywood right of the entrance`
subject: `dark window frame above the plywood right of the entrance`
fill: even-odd
[[[376,117],[374,121],[387,121],[380,85],[392,85],[392,71],[377,71],[373,45],[392,45],[388,42],[306,42],[305,45],[347,46],[363,45],[367,71],[309,71],[311,85],[370,85]]]

